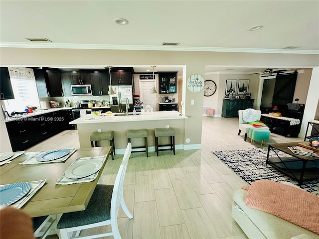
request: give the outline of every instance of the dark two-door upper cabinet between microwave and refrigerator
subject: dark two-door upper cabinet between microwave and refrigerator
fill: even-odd
[[[108,94],[110,77],[109,72],[91,73],[92,95],[105,96]]]

